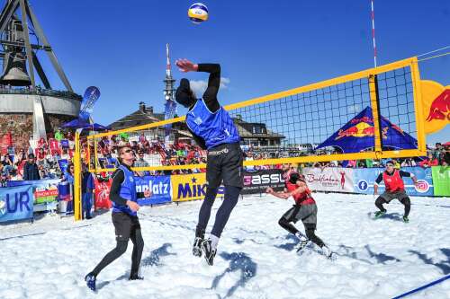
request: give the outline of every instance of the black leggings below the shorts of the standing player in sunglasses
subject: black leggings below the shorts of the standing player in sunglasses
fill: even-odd
[[[131,242],[133,242],[133,253],[131,254],[131,272],[130,277],[135,277],[139,273],[140,259],[142,258],[142,251],[144,250],[144,240],[140,233],[140,228],[135,229],[130,233]],[[115,259],[119,258],[125,251],[127,251],[128,240],[117,241],[116,247],[108,252],[100,263],[94,268],[92,273],[96,277],[100,271],[106,266],[112,263]]]

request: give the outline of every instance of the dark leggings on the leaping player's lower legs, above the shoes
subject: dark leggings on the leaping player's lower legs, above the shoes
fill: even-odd
[[[218,238],[220,238],[220,234],[222,233],[225,224],[227,224],[228,222],[231,211],[238,203],[241,189],[242,188],[234,186],[225,186],[225,195],[223,198],[223,202],[216,213],[216,219],[211,231],[211,234],[215,235]],[[198,216],[198,225],[195,233],[197,237],[203,236],[206,225],[208,225],[208,221],[210,220],[211,216],[211,208],[217,196],[217,191],[217,188],[206,189],[206,196],[203,200],[202,207],[200,208],[200,213]]]

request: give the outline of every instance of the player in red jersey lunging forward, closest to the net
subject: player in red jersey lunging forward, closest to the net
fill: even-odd
[[[287,190],[284,192],[275,192],[272,188],[267,188],[266,192],[277,198],[287,199],[291,196],[295,200],[295,205],[291,207],[278,221],[289,233],[293,233],[300,239],[298,251],[302,250],[309,241],[316,243],[322,253],[328,258],[332,258],[333,252],[327,245],[314,233],[317,226],[317,206],[314,198],[311,197],[311,191],[305,183],[302,175],[293,172],[290,179],[286,182]],[[291,224],[302,220],[305,227],[306,238],[300,231]]]

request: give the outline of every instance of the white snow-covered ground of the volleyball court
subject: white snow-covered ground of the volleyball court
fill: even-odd
[[[0,298],[390,298],[450,274],[450,198],[411,198],[409,224],[398,201],[373,220],[372,196],[315,198],[317,234],[337,252],[335,261],[293,249],[295,239],[277,224],[291,201],[239,200],[213,267],[191,253],[201,201],[143,207],[145,280],[127,279],[130,242],[97,277],[97,294],[83,278],[115,246],[110,213],[79,223],[47,215],[2,225]],[[409,298],[450,298],[450,279]]]

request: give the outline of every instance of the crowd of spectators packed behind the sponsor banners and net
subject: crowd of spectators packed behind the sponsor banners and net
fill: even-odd
[[[91,139],[92,140],[92,139]],[[94,167],[94,144],[81,138],[81,156],[85,163],[91,163]],[[136,154],[135,167],[184,165],[206,163],[207,151],[189,142],[175,140],[165,144],[160,137],[149,137],[143,133],[129,136],[127,134],[103,136],[98,141],[97,166],[102,169],[115,168],[117,165],[118,149],[128,145]],[[89,146],[89,151],[87,147]],[[264,148],[243,146],[246,160],[262,160],[291,154],[283,150],[265,151]],[[30,145],[8,148],[7,154],[0,155],[0,182],[5,185],[6,180],[41,180],[41,179],[63,179],[69,180],[67,174],[75,152],[74,133],[63,132],[60,129],[47,140],[41,138],[37,143]],[[90,154],[89,154],[90,153]],[[87,161],[89,160],[89,161]],[[382,160],[349,160],[330,161],[326,163],[301,163],[300,167],[351,167],[369,168],[383,167],[391,159]],[[450,146],[437,143],[433,149],[428,149],[427,157],[410,157],[394,160],[396,167],[420,166],[431,167],[437,165],[448,166],[450,164]],[[248,171],[274,168],[271,165],[247,166]],[[150,174],[183,174],[193,172],[204,172],[204,169],[186,169],[175,171],[139,171],[139,175]],[[68,178],[68,179],[67,179]],[[107,179],[107,175],[103,178]]]

